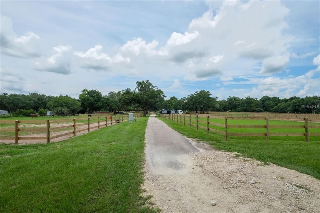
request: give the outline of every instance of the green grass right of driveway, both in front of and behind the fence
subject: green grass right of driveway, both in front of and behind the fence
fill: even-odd
[[[288,169],[297,170],[299,172],[312,175],[320,179],[320,136],[310,136],[309,142],[305,142],[305,136],[270,136],[270,140],[266,141],[265,136],[232,136],[225,141],[225,135],[213,131],[207,134],[206,128],[198,128],[196,130],[196,122],[189,127],[189,121],[184,125],[179,120],[169,120],[159,117],[172,129],[177,130],[181,134],[189,138],[207,142],[216,149],[237,152],[244,157],[254,158],[265,164],[268,162],[286,167]],[[195,119],[195,116],[192,116]],[[206,121],[206,118],[198,118]],[[224,125],[224,119],[210,118],[209,122],[220,123]],[[265,120],[228,120],[231,125],[265,125]],[[304,125],[304,122],[294,121],[269,121],[270,125]],[[320,125],[319,123],[308,123],[309,125]],[[198,122],[198,125],[206,127],[206,123]],[[210,125],[209,125],[210,126]],[[216,130],[224,132],[224,127],[213,126]],[[228,128],[228,132],[233,133],[264,133],[263,128]],[[304,128],[270,128],[273,133],[304,133]],[[310,132],[320,133],[320,128],[309,129]]]

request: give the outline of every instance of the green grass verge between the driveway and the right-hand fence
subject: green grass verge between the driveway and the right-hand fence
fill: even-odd
[[[184,126],[163,117],[159,119],[181,134],[205,141],[216,149],[237,152],[265,164],[271,162],[320,179],[320,136],[309,136],[309,142],[305,142],[304,137],[299,136],[270,136],[268,142],[266,137],[230,136],[228,141],[224,141],[224,135],[211,131],[206,134],[206,130],[196,130],[195,126],[190,128],[187,124]]]

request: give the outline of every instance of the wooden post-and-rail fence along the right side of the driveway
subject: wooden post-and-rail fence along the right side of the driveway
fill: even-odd
[[[195,116],[196,120],[192,120],[191,117]],[[196,130],[199,128],[207,130],[207,134],[209,131],[213,131],[225,136],[225,141],[228,140],[228,136],[266,136],[267,141],[270,140],[270,136],[305,136],[305,140],[309,141],[309,136],[320,136],[320,133],[309,133],[309,128],[320,128],[320,125],[308,125],[308,122],[311,122],[309,118],[296,118],[295,121],[304,122],[304,125],[269,125],[269,120],[278,120],[278,121],[292,121],[292,118],[284,118],[284,117],[227,117],[227,116],[219,116],[219,115],[186,115],[186,114],[160,114],[160,117],[164,117],[173,122],[177,122],[183,125],[195,126]],[[206,121],[199,121],[199,117],[206,117]],[[209,122],[209,118],[218,118],[224,119],[224,124]],[[265,120],[266,125],[229,125],[228,120]],[[319,122],[320,118],[313,118],[314,122]],[[196,122],[196,124],[191,123]],[[198,125],[199,123],[205,123],[206,127]],[[224,127],[225,131],[215,130],[209,128],[210,125]],[[266,133],[229,133],[228,128],[265,128]],[[304,128],[305,133],[270,133],[270,128]]]

